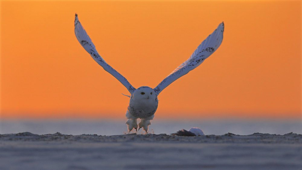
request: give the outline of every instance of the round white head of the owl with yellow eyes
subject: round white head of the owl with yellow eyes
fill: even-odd
[[[141,100],[141,99],[155,100],[156,94],[152,88],[147,86],[142,86],[134,91],[132,98],[133,100]]]

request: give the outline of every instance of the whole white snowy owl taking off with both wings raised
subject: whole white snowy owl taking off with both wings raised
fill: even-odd
[[[147,132],[150,120],[153,119],[154,113],[158,106],[157,96],[159,93],[170,85],[172,82],[187,74],[189,71],[195,69],[204,60],[214,53],[222,43],[224,24],[219,24],[216,30],[210,34],[194,51],[188,60],[178,66],[173,72],[171,72],[162,82],[159,83],[155,88],[142,86],[134,88],[127,79],[122,76],[119,72],[113,69],[105,60],[98,54],[95,49],[95,45],[92,43],[90,37],[83,29],[78,15],[75,16],[75,34],[76,38],[84,47],[84,49],[92,56],[92,58],[104,68],[107,72],[113,75],[118,81],[120,81],[130,92],[130,102],[126,111],[126,117],[129,132],[139,127]],[[137,125],[137,119],[140,118],[140,123]]]

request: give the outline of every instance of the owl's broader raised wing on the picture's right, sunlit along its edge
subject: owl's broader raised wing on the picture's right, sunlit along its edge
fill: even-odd
[[[216,30],[210,34],[194,51],[190,58],[178,66],[172,73],[170,73],[156,88],[153,90],[157,95],[172,82],[187,74],[189,71],[199,66],[206,58],[213,54],[222,43],[224,24],[219,24]]]

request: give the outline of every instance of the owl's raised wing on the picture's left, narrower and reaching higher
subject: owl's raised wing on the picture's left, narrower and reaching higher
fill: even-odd
[[[84,49],[92,56],[92,58],[104,68],[107,72],[109,72],[111,75],[113,75],[118,81],[120,81],[130,92],[132,95],[133,92],[136,90],[128,81],[127,79],[122,76],[119,72],[117,72],[115,69],[113,69],[109,64],[105,62],[105,60],[98,54],[98,52],[95,49],[95,45],[92,43],[90,37],[82,27],[82,24],[80,23],[78,19],[78,14],[76,14],[75,17],[75,34],[76,38],[84,47]]]

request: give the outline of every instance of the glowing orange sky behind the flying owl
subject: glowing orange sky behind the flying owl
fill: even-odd
[[[124,119],[104,60],[156,87],[224,21],[222,45],[159,95],[155,118],[300,118],[301,1],[1,1],[1,118]]]

